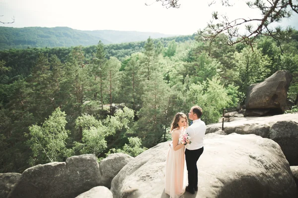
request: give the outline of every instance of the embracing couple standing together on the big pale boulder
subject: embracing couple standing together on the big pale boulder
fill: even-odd
[[[179,198],[185,191],[198,191],[197,161],[203,153],[206,125],[201,120],[202,108],[191,107],[188,118],[193,121],[188,126],[187,116],[177,113],[171,124],[172,143],[168,151],[165,167],[164,191],[170,198]],[[186,167],[185,167],[186,161]],[[185,188],[188,180],[188,186]]]

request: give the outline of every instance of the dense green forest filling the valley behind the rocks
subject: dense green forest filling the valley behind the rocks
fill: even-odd
[[[278,70],[298,93],[298,31],[282,41],[224,45],[199,35],[72,48],[0,51],[0,172],[94,153],[137,156],[170,140],[177,112],[197,104],[216,123],[246,89]],[[297,106],[293,106],[297,109]]]

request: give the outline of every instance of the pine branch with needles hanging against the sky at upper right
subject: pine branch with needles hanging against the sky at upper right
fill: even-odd
[[[270,2],[269,0],[267,0]],[[246,45],[252,46],[256,36],[265,35],[271,36],[275,40],[280,40],[283,34],[288,34],[292,30],[287,30],[286,33],[282,33],[281,28],[276,28],[276,31],[270,30],[268,26],[273,22],[278,22],[282,18],[290,17],[290,12],[286,10],[289,2],[286,3],[282,0],[275,0],[273,3],[270,2],[271,7],[265,6],[265,3],[262,1],[256,1],[254,3],[248,2],[247,5],[251,8],[259,8],[263,17],[260,19],[244,19],[238,18],[232,21],[229,21],[226,16],[223,16],[224,20],[219,20],[220,23],[214,24],[213,21],[208,23],[208,28],[210,29],[207,32],[207,35],[204,34],[203,31],[199,31],[198,34],[201,35],[205,39],[215,39],[221,33],[227,33],[228,40],[226,41],[226,45],[234,45],[237,43],[245,43]],[[214,17],[215,18],[215,17]],[[249,22],[260,21],[260,24],[253,28],[252,25],[249,25]],[[248,25],[246,25],[248,24]],[[248,35],[240,34],[238,32],[239,27],[245,25],[245,28],[248,31]],[[236,40],[236,38],[238,38]]]

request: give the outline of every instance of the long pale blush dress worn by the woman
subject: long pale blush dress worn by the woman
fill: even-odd
[[[179,130],[179,136],[182,133],[184,132]],[[180,141],[178,144],[181,144]],[[176,151],[170,147],[167,154],[164,191],[170,196],[170,198],[179,198],[185,192],[187,172],[185,172],[186,164],[184,151],[185,147],[182,147]]]

